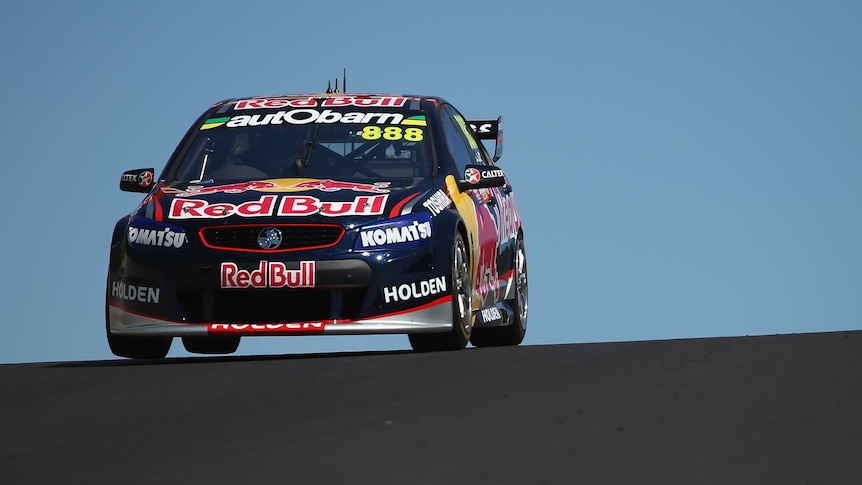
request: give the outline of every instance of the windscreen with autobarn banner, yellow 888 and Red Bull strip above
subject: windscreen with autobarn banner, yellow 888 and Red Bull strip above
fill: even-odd
[[[167,182],[307,177],[414,185],[432,174],[418,104],[347,96],[237,101],[204,120]]]

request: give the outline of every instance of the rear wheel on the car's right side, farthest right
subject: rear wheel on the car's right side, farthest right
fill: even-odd
[[[476,328],[470,343],[476,347],[499,347],[518,345],[527,334],[527,307],[529,306],[527,287],[527,252],[524,238],[518,236],[512,267],[515,268],[515,299],[510,305],[515,310],[512,324],[506,327]]]

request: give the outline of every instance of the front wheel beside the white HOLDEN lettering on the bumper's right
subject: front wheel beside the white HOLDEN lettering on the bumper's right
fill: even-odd
[[[455,235],[452,254],[452,330],[446,333],[408,335],[417,352],[459,350],[467,346],[473,328],[473,285],[470,281],[467,246],[461,233]]]

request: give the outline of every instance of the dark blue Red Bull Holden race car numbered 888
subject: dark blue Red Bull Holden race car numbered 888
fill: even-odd
[[[502,118],[467,121],[439,97],[214,104],[160,174],[122,175],[146,196],[111,240],[111,351],[327,334],[406,334],[418,351],[520,344],[527,261],[502,142]]]

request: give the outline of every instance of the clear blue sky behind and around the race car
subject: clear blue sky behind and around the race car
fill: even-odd
[[[215,101],[323,91],[343,68],[350,91],[505,117],[525,344],[858,329],[860,25],[855,1],[11,2],[0,362],[112,358],[111,231],[141,199],[120,174],[161,169]]]

